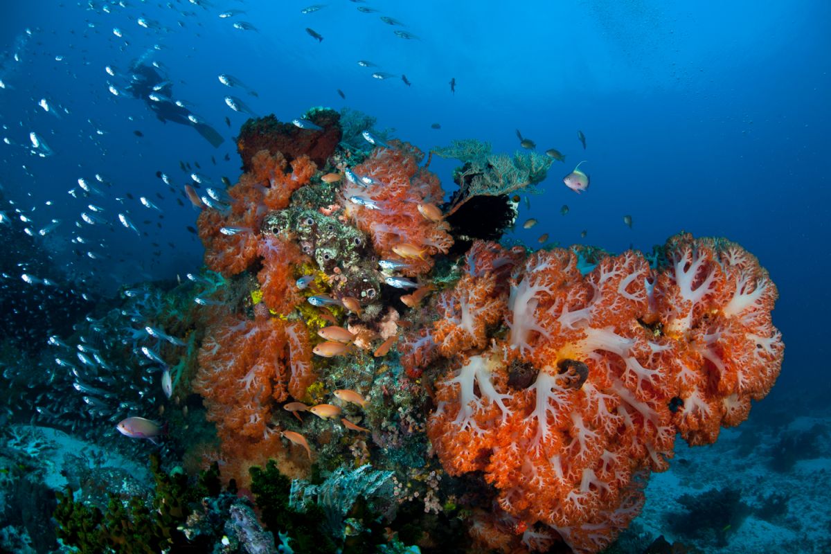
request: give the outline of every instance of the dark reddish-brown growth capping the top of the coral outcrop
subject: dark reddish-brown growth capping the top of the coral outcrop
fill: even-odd
[[[253,168],[253,156],[260,150],[268,150],[271,154],[281,152],[288,161],[306,154],[315,164],[325,165],[341,141],[341,115],[335,110],[320,109],[307,114],[306,119],[323,130],[307,130],[291,123],[280,123],[274,115],[246,121],[237,139],[243,169],[249,171]]]

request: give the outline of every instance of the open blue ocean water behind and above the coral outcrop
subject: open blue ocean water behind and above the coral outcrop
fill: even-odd
[[[476,138],[512,153],[520,148],[516,130],[538,150],[560,150],[565,161],[554,162],[542,193],[520,206],[519,222],[538,224],[518,224],[509,235],[529,245],[548,233],[564,246],[649,251],[681,230],[740,243],[779,288],[774,324],[786,345],[779,380],[754,412],[781,400],[810,415],[831,393],[829,2],[328,0],[317,11],[304,7],[295,0],[2,7],[0,209],[21,208],[36,231],[61,220],[42,245],[55,267],[86,287],[78,295],[99,298],[201,265],[202,246],[188,230],[197,213],[181,192],[191,171],[180,163],[215,182],[237,179],[234,137],[248,115],[224,96],[283,121],[312,106],[347,107],[425,151]],[[219,17],[229,10],[243,13]],[[218,130],[222,145],[209,145],[189,125],[160,121],[149,102],[126,92],[140,58],[159,62],[171,97]],[[376,79],[374,71],[392,76]],[[257,96],[224,86],[222,73]],[[39,155],[30,133],[52,153]],[[578,195],[562,178],[581,160],[591,184]],[[455,165],[435,157],[430,165],[445,190],[453,189]],[[173,189],[157,172],[170,176]],[[103,194],[68,194],[78,179]],[[71,243],[89,203],[115,223],[85,228],[86,246]],[[118,224],[116,213],[128,214],[140,233]]]

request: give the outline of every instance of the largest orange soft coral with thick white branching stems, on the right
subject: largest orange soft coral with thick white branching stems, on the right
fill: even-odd
[[[667,468],[676,432],[714,441],[779,373],[777,293],[757,260],[688,234],[667,242],[666,257],[656,272],[625,252],[585,277],[569,250],[478,270],[469,257],[484,278],[448,293],[469,305],[434,326],[459,369],[436,386],[428,434],[448,473],[484,471],[506,517],[538,523],[529,537],[606,547],[640,511],[641,476]],[[483,300],[497,264],[514,268],[509,295]],[[484,335],[494,312],[509,326],[501,340]]]

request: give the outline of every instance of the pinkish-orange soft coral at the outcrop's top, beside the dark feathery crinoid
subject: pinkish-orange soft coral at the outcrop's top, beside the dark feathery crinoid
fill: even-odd
[[[393,249],[396,245],[414,247],[412,255],[404,255],[409,258],[409,267],[401,271],[414,277],[430,271],[431,256],[447,253],[453,238],[447,233],[447,223],[432,221],[419,212],[419,204],[440,203],[444,197],[435,174],[419,167],[424,154],[407,143],[392,141],[392,146],[372,150],[369,158],[355,166],[358,177],[368,177],[372,182],[366,185],[346,180],[341,189],[342,203],[347,216],[371,236],[380,257],[398,260],[402,257]],[[373,206],[350,201],[355,197]]]

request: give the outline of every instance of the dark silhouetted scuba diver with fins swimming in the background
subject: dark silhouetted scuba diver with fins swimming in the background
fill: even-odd
[[[130,66],[130,71],[132,74],[127,91],[135,98],[145,101],[162,123],[173,121],[180,125],[189,125],[214,148],[218,148],[224,142],[222,135],[219,135],[213,127],[199,121],[180,102],[171,100],[173,85],[161,76],[154,66],[140,60]]]

